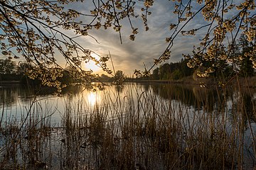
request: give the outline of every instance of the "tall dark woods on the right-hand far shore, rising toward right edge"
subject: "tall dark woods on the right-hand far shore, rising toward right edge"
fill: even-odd
[[[232,52],[227,52],[227,60],[219,65],[216,65],[214,72],[208,74],[208,77],[215,77],[221,80],[228,80],[235,75],[239,77],[253,77],[255,76],[255,68],[252,64],[252,59],[256,57],[247,56],[247,52],[253,50],[254,46],[251,42],[247,41],[245,35],[241,35],[238,42],[234,45],[235,49]],[[227,50],[228,51],[228,50]],[[229,62],[230,58],[239,58],[235,62]],[[166,79],[183,79],[183,77],[189,77],[193,75],[193,79],[199,78],[198,73],[203,75],[207,72],[210,65],[213,65],[216,61],[204,61],[200,67],[194,67],[191,69],[188,67],[189,61],[192,58],[184,58],[179,62],[171,62],[161,64],[159,67],[151,72],[149,77],[138,77],[138,80],[151,79],[151,80],[166,80]],[[217,59],[216,59],[217,60]]]

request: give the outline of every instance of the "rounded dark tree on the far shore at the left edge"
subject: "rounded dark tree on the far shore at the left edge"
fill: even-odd
[[[0,60],[0,74],[14,74],[16,72],[16,62],[9,59]]]

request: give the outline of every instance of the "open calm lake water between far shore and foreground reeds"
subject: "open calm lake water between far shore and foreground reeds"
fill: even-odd
[[[245,122],[256,122],[253,109],[256,89],[238,92],[233,88],[206,89],[198,86],[126,83],[123,87],[106,86],[104,91],[90,91],[75,86],[65,89],[60,95],[54,94],[50,89],[41,89],[35,96],[35,91],[20,85],[0,86],[1,121],[22,120],[31,109],[41,112],[41,115],[50,115],[51,123],[58,125],[67,111],[67,106],[73,112],[82,107],[80,111],[86,114],[107,105],[112,117],[111,112],[114,112],[117,103],[125,105],[133,102],[138,106],[138,101],[143,102],[143,98],[150,96],[161,104],[190,110],[191,117],[200,112],[215,115],[225,113],[225,117],[232,122],[236,110],[242,109],[249,118]],[[240,106],[241,103],[243,106]]]

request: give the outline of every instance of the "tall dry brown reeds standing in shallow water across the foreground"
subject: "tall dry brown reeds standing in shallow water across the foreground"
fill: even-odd
[[[235,88],[124,86],[93,107],[67,100],[58,127],[33,101],[21,120],[1,118],[0,169],[253,169],[253,91]]]

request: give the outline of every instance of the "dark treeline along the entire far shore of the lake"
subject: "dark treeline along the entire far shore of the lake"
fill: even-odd
[[[254,64],[252,64],[252,59],[256,57],[256,54],[254,56],[247,55],[248,52],[254,49],[252,42],[248,42],[245,35],[241,35],[238,42],[233,47],[234,49],[232,52],[226,54],[226,62],[216,65],[216,67],[213,68],[214,72],[211,72],[209,77],[217,77],[222,80],[228,80],[234,75],[238,75],[239,77],[255,76],[255,68],[253,67]],[[228,59],[232,57],[238,58],[239,60],[235,60],[235,62],[228,62]],[[200,67],[194,67],[191,69],[188,67],[190,60],[193,60],[193,56],[192,58],[183,58],[179,62],[161,64],[159,67],[156,67],[156,69],[154,69],[148,77],[126,77],[124,72],[118,70],[112,77],[102,74],[101,76],[92,79],[92,81],[115,81],[117,84],[120,84],[122,81],[124,81],[124,79],[127,81],[133,81],[134,79],[178,80],[192,75],[193,79],[196,79],[198,78],[198,73],[203,74],[207,71],[210,65],[213,65],[216,62],[214,60],[205,60],[203,63],[201,63]],[[18,62],[18,64],[16,64],[16,62],[9,59],[0,60],[0,81],[31,81],[33,83],[40,84],[40,81],[31,80],[26,77],[26,69],[29,69],[30,67],[31,66],[26,62]],[[78,81],[74,80],[73,77],[70,77],[68,68],[64,69],[62,73],[63,77],[58,78],[60,82],[63,82],[64,84],[71,84]]]

